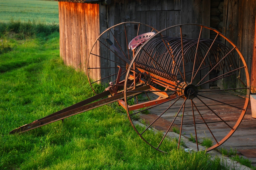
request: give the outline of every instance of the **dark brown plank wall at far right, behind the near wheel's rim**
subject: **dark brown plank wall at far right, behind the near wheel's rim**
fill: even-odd
[[[223,31],[234,44],[237,45],[246,60],[252,86],[256,86],[256,65],[252,63],[253,49],[255,49],[255,10],[254,0],[225,0]],[[256,57],[256,55],[254,55]],[[255,59],[254,59],[255,61]],[[241,78],[243,78],[241,73]]]

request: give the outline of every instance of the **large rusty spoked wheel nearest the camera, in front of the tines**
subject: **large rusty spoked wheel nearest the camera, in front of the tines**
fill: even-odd
[[[209,32],[214,39],[205,39]],[[236,131],[247,110],[250,83],[245,59],[234,43],[213,28],[181,24],[161,30],[137,48],[124,95],[129,120],[146,143],[165,152],[170,132],[176,131],[178,147],[181,135],[194,136],[197,149],[207,135],[213,141],[210,151]],[[141,81],[128,83],[134,73]],[[155,89],[127,97],[141,82]],[[237,97],[236,103],[230,95]],[[143,108],[139,103],[145,103]],[[137,125],[138,119],[144,126]],[[152,135],[153,129],[162,130],[163,136]]]

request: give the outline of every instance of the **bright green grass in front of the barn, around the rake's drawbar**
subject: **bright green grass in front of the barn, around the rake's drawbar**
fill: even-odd
[[[163,154],[133,130],[124,111],[107,105],[20,135],[16,127],[40,119],[93,95],[87,77],[59,58],[59,33],[27,37],[5,35],[11,51],[0,57],[0,169],[221,169],[205,152],[177,150],[174,140]],[[13,66],[13,67],[12,67]],[[99,87],[100,88],[100,87]],[[149,132],[157,141],[162,134]],[[175,143],[174,143],[175,142]],[[214,166],[212,166],[214,165]]]

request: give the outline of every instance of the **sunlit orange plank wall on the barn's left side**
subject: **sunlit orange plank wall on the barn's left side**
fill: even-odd
[[[100,35],[99,4],[60,1],[59,25],[60,56],[65,64],[85,71],[89,50]]]

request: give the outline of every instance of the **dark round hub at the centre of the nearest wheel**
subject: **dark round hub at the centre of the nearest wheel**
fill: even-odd
[[[197,96],[198,89],[194,84],[188,82],[185,84],[185,82],[182,82],[179,87],[181,87],[181,89],[178,92],[178,95],[183,95],[182,98],[193,99]]]

